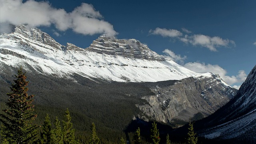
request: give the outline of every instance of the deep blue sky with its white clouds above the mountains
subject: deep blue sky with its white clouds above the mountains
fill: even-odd
[[[57,42],[135,38],[196,72],[238,88],[256,64],[255,0],[1,0],[0,32],[28,24]]]

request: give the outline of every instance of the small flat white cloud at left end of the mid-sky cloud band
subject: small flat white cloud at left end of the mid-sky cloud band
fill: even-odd
[[[163,37],[178,37],[182,36],[182,33],[178,30],[166,29],[166,28],[156,28],[155,30],[149,30],[149,34],[161,35]]]

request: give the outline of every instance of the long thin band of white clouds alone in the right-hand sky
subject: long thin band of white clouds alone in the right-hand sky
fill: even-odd
[[[228,47],[230,46],[230,44],[236,46],[233,40],[223,39],[218,36],[211,37],[203,34],[190,34],[191,32],[186,28],[182,28],[182,31],[187,34],[184,35],[178,30],[167,30],[166,28],[156,28],[155,30],[150,30],[149,34],[161,35],[163,37],[170,38],[178,38],[178,40],[186,44],[192,44],[193,46],[202,46],[215,52],[218,51],[218,47]]]

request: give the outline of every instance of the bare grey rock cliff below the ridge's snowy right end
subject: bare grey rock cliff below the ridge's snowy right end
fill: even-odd
[[[162,122],[189,121],[195,114],[208,116],[226,104],[236,90],[221,82],[218,75],[184,78],[167,86],[152,86],[156,95],[143,97],[148,104],[138,106],[149,117]]]

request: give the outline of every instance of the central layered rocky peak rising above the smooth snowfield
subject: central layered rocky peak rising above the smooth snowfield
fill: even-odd
[[[112,56],[124,56],[126,58],[136,58],[145,60],[165,60],[164,56],[153,52],[147,45],[136,39],[116,39],[114,36],[99,36],[87,48],[92,52],[108,54]]]

